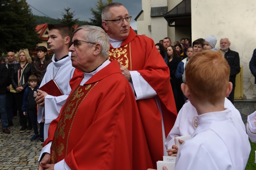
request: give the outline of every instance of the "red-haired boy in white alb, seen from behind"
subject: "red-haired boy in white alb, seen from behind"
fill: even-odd
[[[244,169],[251,148],[237,114],[232,113],[234,109],[224,106],[232,84],[223,54],[200,52],[191,58],[187,68],[187,84],[181,87],[198,116],[193,118],[197,123],[191,139],[177,152],[175,169]]]

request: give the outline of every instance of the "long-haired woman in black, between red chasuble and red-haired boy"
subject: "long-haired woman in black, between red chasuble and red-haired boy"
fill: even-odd
[[[173,92],[177,112],[179,112],[183,105],[183,96],[181,91],[181,83],[180,83],[180,80],[178,80],[175,77],[175,72],[179,63],[181,62],[181,57],[179,57],[179,55],[177,54],[174,46],[168,46],[166,49],[166,52],[167,52],[168,67],[170,70],[170,82],[172,86],[172,92]]]

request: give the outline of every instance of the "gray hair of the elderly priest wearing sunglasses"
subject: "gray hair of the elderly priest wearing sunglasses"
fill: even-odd
[[[74,32],[73,35],[78,31],[78,30],[85,30],[88,31],[87,33],[85,33],[84,35],[84,39],[88,42],[91,43],[100,43],[101,44],[101,52],[100,54],[104,57],[104,58],[109,58],[109,36],[108,34],[105,33],[104,30],[102,30],[102,28],[97,27],[97,26],[89,26],[89,25],[85,25],[85,26],[81,26],[78,27]],[[93,46],[93,44],[88,43],[89,46]]]

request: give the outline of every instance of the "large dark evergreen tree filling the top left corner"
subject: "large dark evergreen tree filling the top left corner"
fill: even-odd
[[[0,52],[33,49],[41,42],[26,0],[0,0]]]

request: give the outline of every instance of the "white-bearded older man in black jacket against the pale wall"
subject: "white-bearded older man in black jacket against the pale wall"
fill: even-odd
[[[236,86],[236,75],[240,72],[240,58],[238,52],[229,49],[230,41],[228,38],[221,38],[219,43],[221,45],[221,51],[230,67],[229,81],[233,84],[233,89],[229,94],[228,100],[234,104],[234,88]]]

